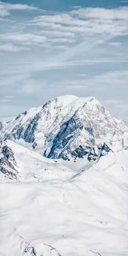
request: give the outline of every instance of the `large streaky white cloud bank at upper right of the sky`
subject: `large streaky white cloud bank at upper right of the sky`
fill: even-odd
[[[78,8],[68,13],[41,15],[32,24],[61,32],[104,34],[113,36],[128,33],[128,7],[115,9]]]

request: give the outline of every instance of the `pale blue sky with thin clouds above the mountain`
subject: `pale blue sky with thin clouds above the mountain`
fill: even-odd
[[[1,120],[64,94],[128,120],[128,1],[6,1],[0,22]]]

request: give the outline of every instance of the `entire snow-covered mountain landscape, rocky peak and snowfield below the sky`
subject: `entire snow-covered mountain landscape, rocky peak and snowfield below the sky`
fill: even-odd
[[[0,122],[1,256],[127,256],[127,135],[94,97]]]

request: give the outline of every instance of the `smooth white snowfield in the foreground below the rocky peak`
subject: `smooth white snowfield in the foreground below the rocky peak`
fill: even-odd
[[[19,181],[0,185],[1,256],[127,256],[126,150],[74,163],[6,143]]]

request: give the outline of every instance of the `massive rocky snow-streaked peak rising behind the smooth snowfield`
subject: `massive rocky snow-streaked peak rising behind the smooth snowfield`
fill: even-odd
[[[88,157],[127,148],[128,124],[113,118],[95,97],[66,95],[19,114],[2,125],[1,137],[23,139],[47,158]],[[105,144],[108,145],[105,147]],[[99,149],[100,148],[100,149]]]

